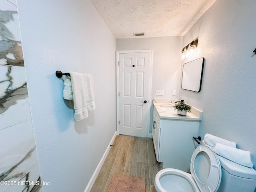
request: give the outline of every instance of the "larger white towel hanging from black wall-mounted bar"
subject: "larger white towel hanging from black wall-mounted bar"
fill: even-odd
[[[88,112],[95,110],[93,77],[90,74],[69,72],[74,100],[74,119],[80,121],[88,117]]]

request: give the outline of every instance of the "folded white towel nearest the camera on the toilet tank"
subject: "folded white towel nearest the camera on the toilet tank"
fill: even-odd
[[[251,156],[249,151],[244,151],[224,144],[216,143],[214,147],[216,154],[229,159],[237,164],[252,168]]]

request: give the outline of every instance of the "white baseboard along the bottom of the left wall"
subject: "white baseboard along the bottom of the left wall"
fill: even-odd
[[[101,158],[101,160],[100,160],[98,166],[96,167],[94,173],[92,174],[92,177],[91,177],[91,179],[90,179],[88,185],[86,186],[84,192],[90,192],[90,190],[92,189],[92,186],[93,186],[93,184],[94,184],[94,182],[95,182],[95,180],[96,180],[96,178],[97,178],[97,176],[98,176],[98,174],[99,174],[99,172],[100,172],[100,169],[101,169],[101,167],[102,167],[102,165],[103,165],[103,163],[104,163],[104,161],[105,161],[105,159],[106,159],[106,157],[107,157],[107,155],[108,155],[108,152],[109,152],[109,150],[110,150],[110,145],[111,145],[111,144],[114,142],[114,140],[115,140],[116,134],[117,134],[117,132],[114,133],[114,136],[112,137],[110,143],[108,144],[108,147],[107,147],[105,153],[103,154],[103,156],[102,156],[102,158]]]

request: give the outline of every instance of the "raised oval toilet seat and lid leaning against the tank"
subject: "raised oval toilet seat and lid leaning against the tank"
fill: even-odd
[[[194,150],[190,163],[190,172],[202,192],[215,192],[221,181],[221,166],[216,153],[206,145]]]

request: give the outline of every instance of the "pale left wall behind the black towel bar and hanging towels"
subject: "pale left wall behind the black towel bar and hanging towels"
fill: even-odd
[[[18,0],[44,192],[82,192],[116,130],[115,38],[90,0]],[[74,122],[56,70],[94,77],[96,110]]]

